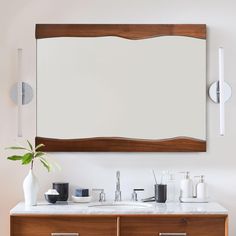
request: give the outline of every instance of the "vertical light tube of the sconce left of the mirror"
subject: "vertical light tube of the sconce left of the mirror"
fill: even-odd
[[[22,49],[17,51],[17,137],[22,137]]]

